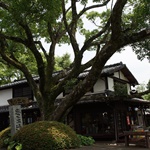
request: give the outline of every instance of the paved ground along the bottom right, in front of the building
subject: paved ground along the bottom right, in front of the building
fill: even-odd
[[[84,146],[72,150],[148,150],[148,149],[149,148],[145,148],[143,146],[130,145],[129,147],[125,147],[124,143],[116,144],[113,142],[102,141],[102,142],[96,142],[93,146]]]

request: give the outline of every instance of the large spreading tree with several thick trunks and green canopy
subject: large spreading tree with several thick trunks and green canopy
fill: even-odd
[[[149,40],[149,3],[149,0],[1,0],[1,59],[23,72],[43,119],[59,121],[91,89],[115,52]],[[49,44],[47,49],[41,42],[43,39]],[[54,75],[56,46],[64,43],[71,45],[74,60],[69,68]],[[82,63],[87,50],[95,50],[96,54]],[[18,53],[35,59],[39,85]],[[89,67],[88,76],[58,106],[54,105],[66,83]]]

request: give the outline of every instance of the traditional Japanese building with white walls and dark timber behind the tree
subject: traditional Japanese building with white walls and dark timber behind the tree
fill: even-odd
[[[81,73],[78,80],[84,79],[89,71]],[[38,84],[38,77],[35,78]],[[131,87],[138,81],[123,63],[105,66],[93,88],[70,110],[65,122],[74,130],[94,138],[119,140],[123,131],[150,126],[146,111],[150,101],[136,98]],[[67,92],[56,99],[59,105]],[[0,130],[9,126],[9,99],[32,100],[31,105],[22,106],[23,123],[38,121],[40,111],[36,99],[26,80],[14,81],[0,86]]]

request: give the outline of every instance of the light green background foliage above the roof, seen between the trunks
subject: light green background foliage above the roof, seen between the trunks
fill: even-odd
[[[28,55],[30,52],[26,51],[23,54],[16,50],[16,57],[17,59],[26,64],[27,68],[29,69],[30,73],[34,75],[38,75],[37,66],[35,59],[32,54]],[[41,55],[43,55],[41,53]],[[44,56],[43,56],[44,57]],[[55,58],[55,71],[63,70],[69,68],[71,64],[70,55],[68,53],[64,54],[63,56],[56,56]],[[14,68],[9,64],[5,64],[0,62],[0,85],[13,82],[14,80],[20,80],[24,78],[24,74]]]

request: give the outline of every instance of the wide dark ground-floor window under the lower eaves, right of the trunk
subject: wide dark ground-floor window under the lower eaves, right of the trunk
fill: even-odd
[[[82,134],[114,133],[114,117],[111,112],[82,114]]]

